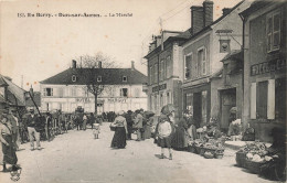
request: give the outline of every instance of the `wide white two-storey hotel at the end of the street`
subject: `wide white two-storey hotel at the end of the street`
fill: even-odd
[[[94,112],[94,95],[87,92],[84,77],[81,76],[74,61],[72,68],[40,82],[42,110],[61,109],[73,112],[77,107],[87,112]],[[147,109],[147,95],[142,84],[147,76],[135,68],[95,68],[97,82],[105,87],[97,98],[97,112]],[[83,72],[85,74],[85,72]]]

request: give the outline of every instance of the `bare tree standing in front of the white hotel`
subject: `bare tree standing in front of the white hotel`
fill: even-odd
[[[105,78],[110,77],[110,72],[104,72],[107,68],[116,68],[116,63],[113,58],[103,53],[97,53],[95,56],[81,56],[81,65],[77,73],[81,80],[85,84],[84,89],[95,97],[95,114],[97,114],[97,99],[104,90],[110,90],[111,87],[105,83]]]

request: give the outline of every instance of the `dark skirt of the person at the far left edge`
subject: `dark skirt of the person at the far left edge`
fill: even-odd
[[[3,152],[3,162],[8,164],[15,164],[18,161],[18,158],[15,155],[15,146],[12,142],[12,136],[2,136],[4,140],[9,143],[9,146],[6,146],[2,143],[2,152]]]

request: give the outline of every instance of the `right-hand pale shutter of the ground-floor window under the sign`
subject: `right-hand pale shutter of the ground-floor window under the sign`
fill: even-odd
[[[275,79],[268,80],[267,94],[267,119],[275,119]]]

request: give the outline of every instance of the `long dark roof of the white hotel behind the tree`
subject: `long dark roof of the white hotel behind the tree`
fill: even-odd
[[[85,85],[87,76],[81,76],[79,73],[87,74],[92,68],[68,68],[47,79],[40,82],[41,84],[51,85]],[[136,85],[147,83],[148,77],[135,68],[94,68],[97,76],[102,76],[103,85]],[[72,76],[76,76],[76,82],[72,80]],[[127,76],[127,82],[123,82],[123,76]],[[95,78],[96,78],[95,77]]]

